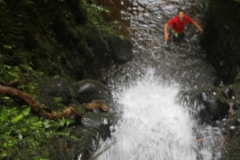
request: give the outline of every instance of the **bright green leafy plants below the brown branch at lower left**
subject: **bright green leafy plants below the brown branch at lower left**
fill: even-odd
[[[4,98],[4,97],[3,97]],[[55,136],[69,135],[69,132],[57,132],[59,127],[65,128],[71,120],[47,120],[33,115],[31,108],[20,106],[0,109],[0,159],[29,159],[34,152],[37,158],[47,158],[48,151],[42,147]],[[21,157],[24,155],[24,157]],[[46,157],[43,157],[46,156]]]

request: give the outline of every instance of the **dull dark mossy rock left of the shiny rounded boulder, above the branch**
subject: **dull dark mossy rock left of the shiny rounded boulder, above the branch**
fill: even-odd
[[[39,82],[41,104],[49,107],[58,107],[55,98],[58,98],[58,103],[68,106],[72,102],[73,94],[71,86],[63,78],[51,79],[45,78]]]

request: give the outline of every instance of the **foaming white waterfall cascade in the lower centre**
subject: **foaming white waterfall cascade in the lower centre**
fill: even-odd
[[[197,127],[187,107],[177,102],[179,89],[147,76],[119,97],[121,120],[112,138],[96,153],[98,160],[212,160],[219,157],[220,131]],[[204,136],[198,142],[197,134]],[[218,136],[216,136],[218,135]]]

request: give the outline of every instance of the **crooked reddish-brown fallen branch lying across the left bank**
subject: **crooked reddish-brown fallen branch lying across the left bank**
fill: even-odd
[[[81,112],[78,111],[78,110],[75,110],[73,107],[68,107],[66,109],[64,109],[63,111],[60,111],[56,114],[54,113],[48,113],[46,111],[44,111],[40,104],[38,104],[34,99],[32,99],[31,96],[29,96],[27,93],[25,92],[22,92],[18,89],[15,89],[15,88],[12,88],[12,87],[8,87],[8,86],[3,86],[3,85],[0,85],[0,93],[6,93],[6,94],[9,94],[9,95],[12,95],[12,96],[15,96],[15,97],[18,97],[18,98],[21,98],[23,99],[25,102],[28,103],[28,105],[30,107],[32,107],[32,109],[40,116],[44,116],[48,119],[57,119],[57,118],[62,118],[62,117],[65,117],[65,118],[68,118],[71,116],[71,114],[76,114],[76,115],[79,115],[81,116]]]

